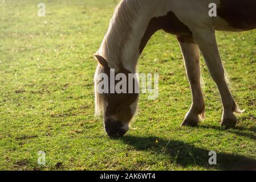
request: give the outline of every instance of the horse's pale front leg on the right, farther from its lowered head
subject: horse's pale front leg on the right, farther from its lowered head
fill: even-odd
[[[210,75],[216,82],[221,94],[223,114],[221,126],[234,127],[237,123],[237,117],[234,112],[241,113],[231,96],[230,90],[225,80],[225,69],[222,65],[221,56],[218,51],[216,36],[213,30],[192,30],[193,38],[198,44],[202,55],[204,55]]]

